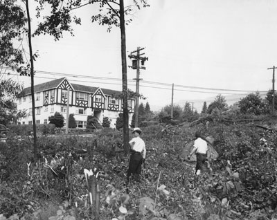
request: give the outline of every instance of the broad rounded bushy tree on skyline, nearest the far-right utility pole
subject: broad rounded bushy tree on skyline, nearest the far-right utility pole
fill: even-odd
[[[260,115],[269,113],[269,105],[260,97],[260,93],[251,93],[238,102],[240,113]]]

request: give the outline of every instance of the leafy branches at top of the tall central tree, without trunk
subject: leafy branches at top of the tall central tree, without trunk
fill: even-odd
[[[143,7],[149,6],[145,0],[140,0]],[[52,1],[52,0],[38,0],[39,7],[37,8],[37,17],[41,16],[41,12],[45,7],[45,3],[48,3],[51,6],[51,14],[44,17],[44,21],[39,24],[35,34],[39,35],[42,33],[48,33],[49,35],[53,35],[55,40],[58,40],[62,37],[63,31],[67,31],[73,35],[73,28],[71,27],[71,23],[73,24],[81,24],[81,18],[76,17],[73,14],[73,9],[81,8],[87,4],[99,4],[100,10],[96,15],[91,16],[92,22],[98,22],[100,25],[107,25],[108,31],[111,30],[112,26],[119,27],[120,26],[120,15],[118,6],[118,1],[112,1],[108,3],[107,1],[89,1],[89,3],[83,3],[82,1],[74,0],[74,1],[65,1],[61,3],[60,1]],[[125,15],[130,15],[133,7],[140,9],[139,1],[134,0],[133,6],[128,6],[124,10]],[[103,10],[105,8],[105,10]],[[129,24],[132,19],[126,19],[125,23]]]

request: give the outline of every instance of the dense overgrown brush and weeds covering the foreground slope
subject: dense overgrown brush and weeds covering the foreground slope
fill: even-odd
[[[90,138],[41,136],[37,164],[28,153],[28,137],[21,142],[9,138],[0,146],[1,214],[10,219],[96,219],[84,169],[98,169],[99,219],[274,219],[276,118],[244,115],[230,121],[229,116],[202,116],[167,129],[145,127],[143,181],[127,188],[123,183],[128,158],[119,150],[121,131],[105,128]],[[213,136],[220,154],[211,163],[213,172],[198,179],[194,164],[180,158],[196,130]],[[260,145],[260,138],[267,145]]]

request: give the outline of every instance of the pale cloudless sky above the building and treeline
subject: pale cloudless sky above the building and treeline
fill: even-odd
[[[195,102],[194,107],[198,111],[201,111],[204,100],[209,104],[218,93],[222,93],[227,100],[234,100],[234,97],[240,100],[241,96],[228,98],[225,93],[242,92],[223,93],[180,88],[177,85],[244,91],[268,91],[272,88],[272,70],[267,68],[277,66],[277,1],[148,2],[150,8],[136,11],[132,24],[126,26],[126,44],[127,55],[138,46],[145,48],[144,56],[149,60],[145,62],[146,70],[141,70],[143,80],[168,84],[141,82],[140,93],[148,98],[152,110],[171,103],[172,84],[176,89],[174,102]],[[89,6],[78,11],[82,15],[82,26],[73,26],[74,37],[65,34],[58,42],[47,35],[33,38],[33,51],[39,51],[35,70],[121,79],[120,30],[113,28],[111,33],[107,33],[106,26],[91,24],[89,17],[98,6],[92,7],[94,9]],[[37,24],[34,7],[32,17],[34,30]],[[127,65],[131,64],[131,59],[127,57]],[[127,75],[128,80],[132,80],[136,77],[136,71],[128,68]],[[37,77],[35,84],[62,77],[37,76],[48,79]],[[120,80],[67,78],[76,84],[122,89]],[[30,86],[30,79],[24,81],[25,86]],[[134,85],[135,82],[128,82],[129,89],[133,91],[136,90]]]

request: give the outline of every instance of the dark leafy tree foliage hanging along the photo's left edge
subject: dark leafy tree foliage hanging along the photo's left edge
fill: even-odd
[[[15,1],[0,1],[0,66],[19,71],[20,65],[24,64],[22,51],[15,46],[15,42],[21,40],[26,21],[24,11],[15,5]],[[0,75],[1,71],[3,68],[0,70]],[[8,69],[5,71],[10,72]],[[17,111],[13,102],[21,89],[21,84],[12,80],[0,82],[0,116],[7,122],[15,122],[26,116],[26,112]]]

